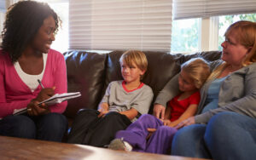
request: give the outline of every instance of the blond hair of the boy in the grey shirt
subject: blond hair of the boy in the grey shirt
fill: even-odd
[[[120,57],[119,62],[125,61],[126,65],[133,66],[133,63],[142,71],[147,71],[148,60],[146,55],[139,50],[128,50]]]

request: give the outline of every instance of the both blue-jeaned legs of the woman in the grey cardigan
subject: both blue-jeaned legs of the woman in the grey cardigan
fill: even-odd
[[[255,140],[256,119],[225,111],[212,117],[207,126],[194,124],[178,130],[172,140],[172,154],[218,160],[253,159]]]

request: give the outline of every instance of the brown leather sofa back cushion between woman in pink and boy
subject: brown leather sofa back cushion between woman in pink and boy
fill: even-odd
[[[108,54],[72,51],[64,54],[67,64],[67,91],[81,92],[68,100],[67,117],[74,117],[81,108],[96,108],[104,90],[105,64]]]

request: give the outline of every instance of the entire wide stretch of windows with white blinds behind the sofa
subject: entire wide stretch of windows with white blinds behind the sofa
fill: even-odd
[[[49,3],[61,17],[62,27],[51,46],[61,53],[68,49],[171,50],[172,53],[221,50],[224,31],[230,24],[237,20],[256,21],[256,14],[241,14],[256,13],[255,0],[37,1]],[[1,31],[4,4],[0,0]],[[117,14],[119,11],[123,13]],[[230,15],[234,12],[238,14]]]

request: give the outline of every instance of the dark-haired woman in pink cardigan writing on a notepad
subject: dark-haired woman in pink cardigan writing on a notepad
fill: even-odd
[[[8,9],[0,50],[1,135],[61,141],[66,132],[67,119],[61,113],[67,102],[38,105],[67,92],[64,57],[49,48],[59,21],[47,3],[21,1]],[[22,108],[27,112],[13,116]]]

